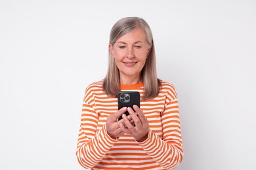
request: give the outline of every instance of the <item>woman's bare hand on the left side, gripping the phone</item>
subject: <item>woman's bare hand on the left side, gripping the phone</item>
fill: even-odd
[[[116,113],[110,114],[108,116],[108,119],[106,120],[106,131],[112,139],[117,139],[118,137],[121,137],[121,135],[125,134],[120,128],[120,124],[124,124],[123,119],[118,120],[118,118],[124,114],[124,112],[127,110],[127,107],[123,107],[119,109]],[[131,118],[131,115],[127,116],[127,118],[133,123],[133,120]]]

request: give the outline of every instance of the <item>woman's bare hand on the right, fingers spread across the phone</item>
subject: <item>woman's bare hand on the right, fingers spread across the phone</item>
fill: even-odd
[[[133,109],[135,109],[135,112],[133,111]],[[131,134],[135,138],[135,140],[140,143],[148,139],[148,120],[145,118],[142,110],[140,110],[137,105],[134,105],[133,109],[129,107],[127,110],[133,118],[135,126],[133,126],[130,120],[128,120],[127,116],[123,114],[123,120],[127,127],[123,126],[123,124],[120,124],[120,127],[122,131]]]

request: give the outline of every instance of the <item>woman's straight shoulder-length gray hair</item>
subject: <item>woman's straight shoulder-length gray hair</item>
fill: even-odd
[[[154,41],[152,31],[148,23],[139,17],[127,17],[118,20],[110,32],[110,44],[112,46],[117,39],[123,35],[140,28],[146,35],[146,40],[149,44],[150,54],[146,59],[146,63],[141,71],[140,79],[144,84],[144,95],[142,99],[152,99],[156,97],[160,90],[161,82],[156,74],[156,54],[154,48]],[[103,90],[108,95],[117,96],[120,86],[119,69],[110,50],[108,50],[108,73],[104,78]]]

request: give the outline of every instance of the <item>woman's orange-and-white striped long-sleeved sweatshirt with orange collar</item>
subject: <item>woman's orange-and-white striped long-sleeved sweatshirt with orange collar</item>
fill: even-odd
[[[173,169],[182,161],[182,139],[177,93],[172,84],[161,80],[160,93],[140,102],[148,120],[148,139],[137,142],[125,134],[112,139],[106,131],[106,119],[117,112],[117,97],[102,90],[103,81],[85,90],[81,126],[77,142],[77,160],[87,169]],[[140,84],[121,85],[121,90],[137,91]]]

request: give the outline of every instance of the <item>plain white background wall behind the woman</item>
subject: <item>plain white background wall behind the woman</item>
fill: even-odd
[[[0,169],[82,169],[85,88],[104,78],[112,25],[150,24],[159,78],[179,95],[177,169],[255,169],[256,2],[0,0]]]

